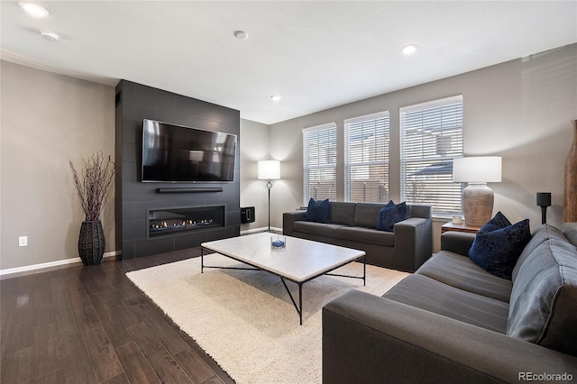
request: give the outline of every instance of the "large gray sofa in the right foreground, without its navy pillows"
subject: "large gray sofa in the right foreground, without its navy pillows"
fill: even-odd
[[[474,236],[444,233],[442,251],[383,297],[351,290],[328,303],[323,382],[575,382],[574,244],[538,227],[508,280],[465,256]]]

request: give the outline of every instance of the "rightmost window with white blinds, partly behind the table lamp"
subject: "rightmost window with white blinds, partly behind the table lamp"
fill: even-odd
[[[461,212],[453,159],[463,157],[463,96],[400,109],[401,198],[432,206],[434,215]]]

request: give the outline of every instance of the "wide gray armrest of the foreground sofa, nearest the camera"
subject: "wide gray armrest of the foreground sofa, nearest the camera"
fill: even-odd
[[[577,358],[351,290],[323,308],[323,382],[519,382],[571,374]]]

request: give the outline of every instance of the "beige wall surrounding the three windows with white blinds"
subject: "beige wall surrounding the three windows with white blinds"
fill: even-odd
[[[572,141],[570,122],[577,119],[577,44],[272,124],[270,157],[281,160],[283,169],[283,183],[271,207],[272,224],[281,225],[282,212],[303,204],[303,128],[335,122],[342,148],[344,119],[388,110],[390,197],[398,201],[398,109],[459,94],[464,102],[465,156],[503,158],[502,182],[490,184],[494,211],[511,221],[528,217],[534,228],[541,224],[536,192],[552,192],[547,223],[561,224],[563,163]],[[342,175],[343,152],[338,156],[337,174]],[[337,187],[343,190],[342,178]],[[435,223],[435,250],[444,221]]]

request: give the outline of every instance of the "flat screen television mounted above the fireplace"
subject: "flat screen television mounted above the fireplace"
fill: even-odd
[[[143,182],[233,182],[236,135],[144,119]]]

